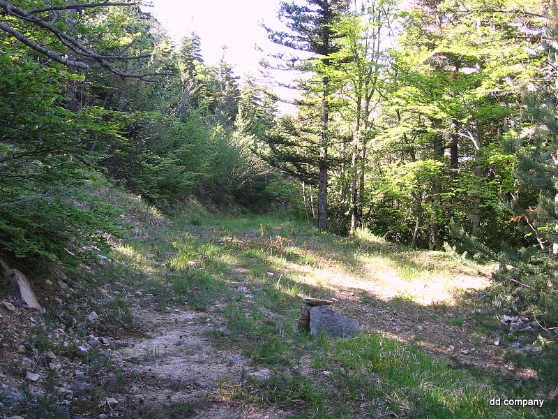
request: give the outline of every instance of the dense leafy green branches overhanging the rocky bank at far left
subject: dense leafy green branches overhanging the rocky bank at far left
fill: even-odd
[[[118,135],[109,112],[63,108],[75,78],[16,50],[0,56],[0,244],[27,260],[77,262],[85,244],[105,246],[114,210],[98,197],[93,138]]]

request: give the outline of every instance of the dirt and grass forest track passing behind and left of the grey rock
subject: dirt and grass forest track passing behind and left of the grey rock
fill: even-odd
[[[173,251],[144,249],[153,252],[149,258],[158,255],[144,269],[175,295],[162,303],[165,293],[144,290],[132,307],[144,333],[123,338],[113,355],[133,378],[122,397],[138,413],[167,406],[178,412],[167,414],[172,419],[290,417],[288,407],[248,403],[245,390],[258,375],[322,374],[307,353],[312,339],[294,330],[306,296],[333,297],[333,308],[356,318],[363,333],[379,332],[444,363],[513,369],[493,344],[498,335],[479,328],[488,315],[462,298],[465,290],[474,297],[490,285],[488,267],[376,239],[314,236],[290,222],[266,228],[231,222],[188,226],[180,234],[189,249],[176,235]]]

